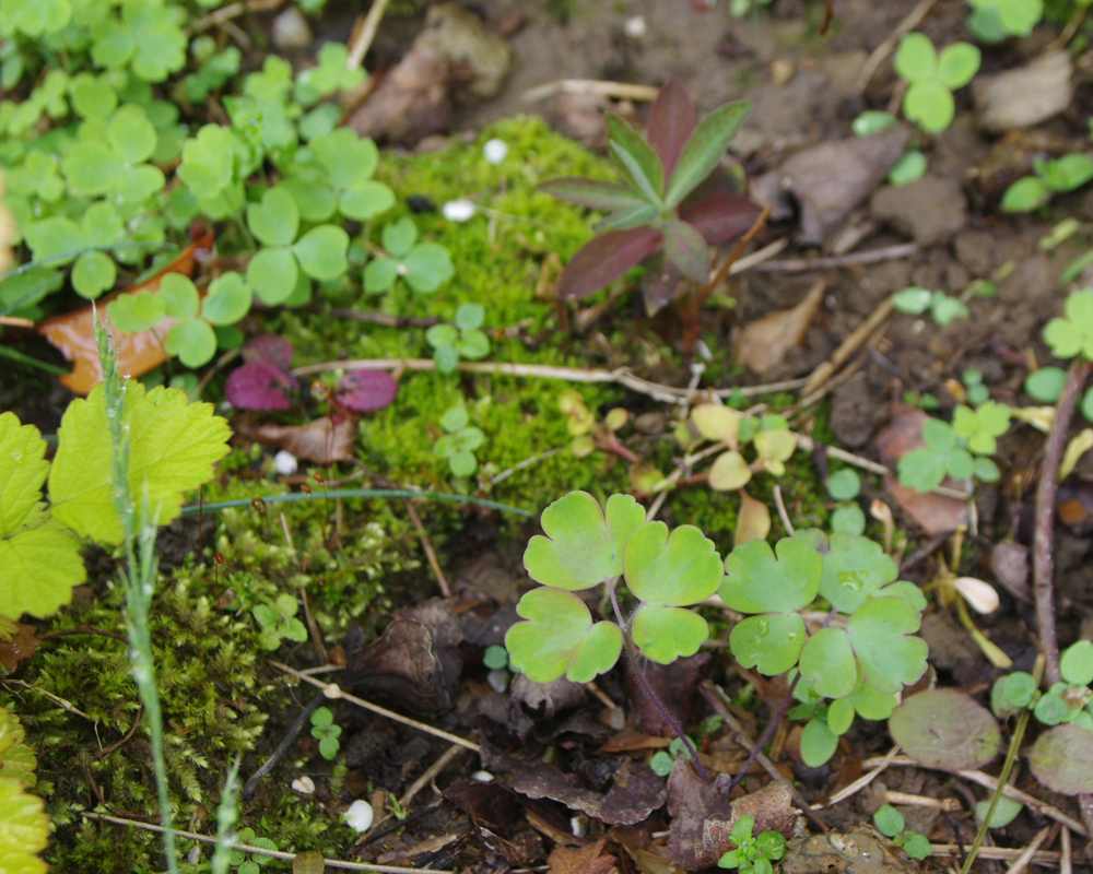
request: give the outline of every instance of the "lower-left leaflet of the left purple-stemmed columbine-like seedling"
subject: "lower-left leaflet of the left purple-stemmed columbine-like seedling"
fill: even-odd
[[[516,612],[527,622],[508,629],[505,647],[529,680],[550,683],[564,674],[574,683],[587,683],[619,661],[619,626],[593,623],[585,602],[573,592],[533,589],[520,599]]]

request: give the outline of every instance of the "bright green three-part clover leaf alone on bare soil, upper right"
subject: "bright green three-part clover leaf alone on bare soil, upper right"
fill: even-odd
[[[907,34],[893,61],[907,82],[903,114],[930,133],[943,131],[956,114],[953,92],[972,81],[980,60],[979,49],[971,43],[953,43],[939,55],[925,34]]]

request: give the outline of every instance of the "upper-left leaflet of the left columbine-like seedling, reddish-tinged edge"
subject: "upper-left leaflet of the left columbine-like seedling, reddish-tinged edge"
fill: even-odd
[[[643,522],[645,508],[628,495],[612,495],[604,512],[587,492],[571,492],[543,510],[546,536],[531,538],[524,566],[531,579],[559,589],[608,582],[622,574],[626,539]]]

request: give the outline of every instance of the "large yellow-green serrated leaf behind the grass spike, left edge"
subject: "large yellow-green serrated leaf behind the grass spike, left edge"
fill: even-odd
[[[97,386],[69,404],[50,464],[37,428],[0,414],[0,615],[54,613],[86,579],[81,539],[120,542],[108,425],[104,387]],[[231,430],[211,405],[190,404],[178,389],[145,393],[136,380],[126,383],[124,425],[131,494],[146,501],[155,524],[166,524],[178,516],[183,494],[212,477]]]

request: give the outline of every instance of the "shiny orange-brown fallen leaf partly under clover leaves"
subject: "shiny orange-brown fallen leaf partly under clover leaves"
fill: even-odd
[[[167,273],[181,273],[186,276],[193,275],[197,265],[197,255],[199,251],[212,250],[213,235],[209,232],[200,239],[196,239],[187,246],[181,253],[163,270],[150,280],[118,292],[114,295],[99,298],[95,304],[98,318],[109,326],[109,317],[106,315],[106,304],[120,295],[136,295],[139,292],[160,291],[160,281]],[[177,319],[165,318],[155,328],[146,331],[127,334],[115,331],[110,326],[110,333],[114,336],[115,345],[118,350],[118,366],[124,375],[143,376],[149,370],[154,370],[165,361],[167,353],[163,347],[163,338],[177,322]],[[90,394],[96,385],[103,381],[103,370],[98,363],[98,341],[95,340],[95,317],[92,307],[87,306],[74,312],[66,312],[62,316],[54,316],[46,319],[35,329],[52,345],[60,350],[61,354],[73,363],[72,373],[60,378],[61,383],[74,391],[77,394]]]

